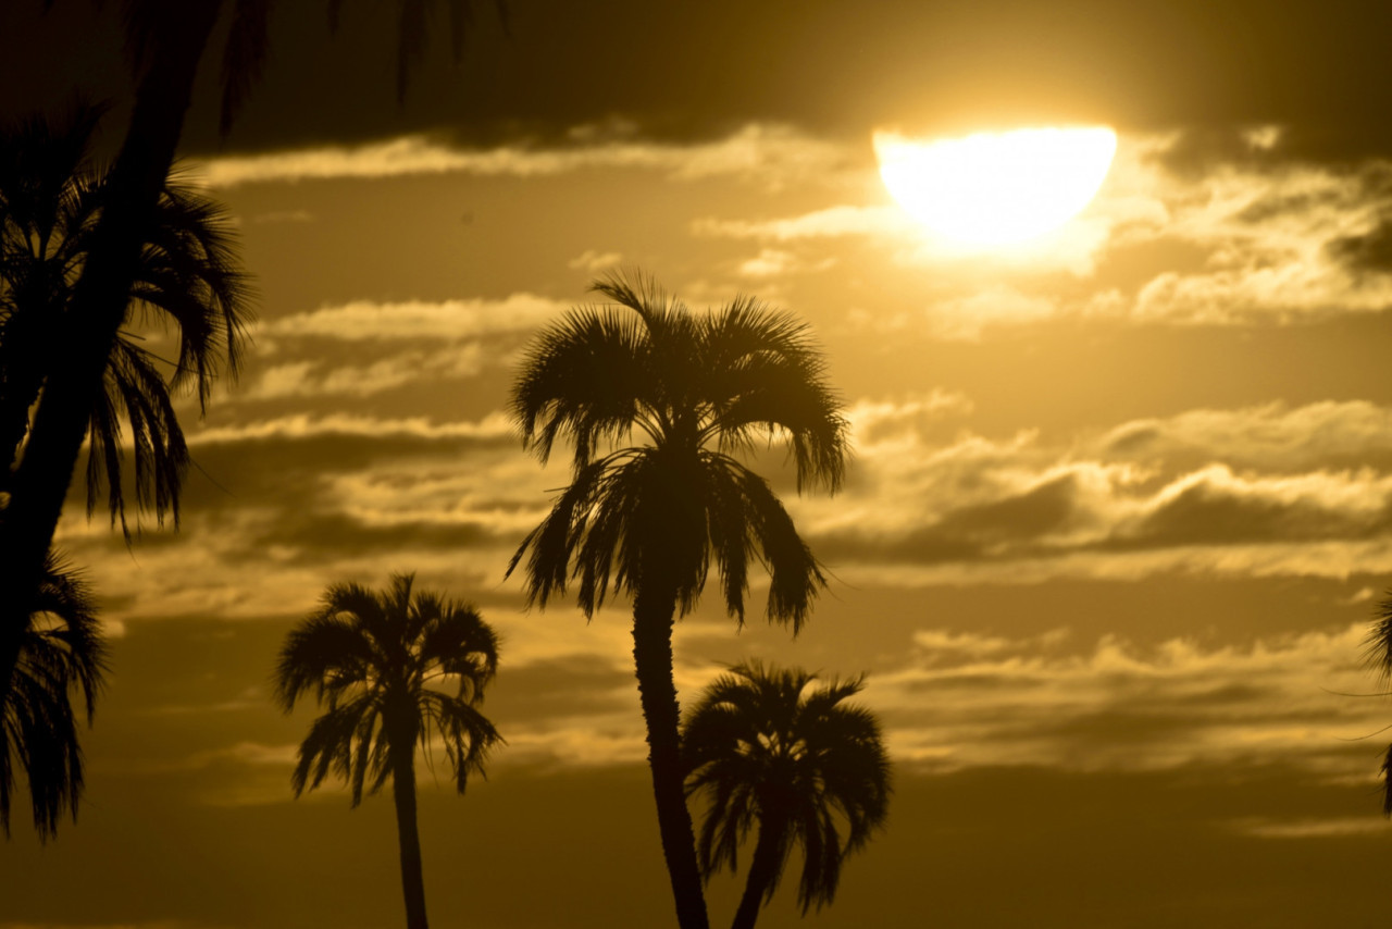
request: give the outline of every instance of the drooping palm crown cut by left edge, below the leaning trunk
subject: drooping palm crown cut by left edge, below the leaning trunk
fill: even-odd
[[[10,836],[10,798],[24,772],[33,827],[46,840],[68,811],[78,815],[82,749],[72,695],[79,692],[88,724],[106,671],[106,645],[92,593],[54,559],[19,641],[19,662],[0,691],[0,827]]]

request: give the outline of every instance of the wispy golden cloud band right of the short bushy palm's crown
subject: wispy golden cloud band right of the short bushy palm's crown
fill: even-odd
[[[1079,641],[1063,628],[1001,638],[920,630],[905,662],[870,678],[895,755],[934,770],[1020,758],[1066,770],[1282,763],[1346,777],[1350,735],[1377,730],[1363,624],[1218,645],[1125,634]],[[1367,767],[1367,780],[1375,776]]]

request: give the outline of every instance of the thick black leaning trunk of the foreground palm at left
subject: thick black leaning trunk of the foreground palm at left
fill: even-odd
[[[142,242],[155,221],[184,130],[198,63],[220,7],[221,0],[164,4],[161,40],[141,78],[131,125],[111,169],[107,199],[74,291],[71,350],[45,384],[10,487],[10,504],[0,521],[0,552],[6,553],[0,575],[0,685],[6,689],[0,691],[0,701],[8,698],[19,653],[18,630],[32,611],[92,404],[125,319]]]

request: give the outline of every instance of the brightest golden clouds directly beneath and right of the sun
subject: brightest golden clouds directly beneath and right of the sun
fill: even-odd
[[[1260,127],[1258,127],[1260,128]],[[1270,130],[1270,127],[1268,127]],[[1318,166],[1286,156],[1279,132],[1229,132],[1237,156],[1185,167],[1203,132],[1126,134],[1097,198],[1058,230],[1004,248],[928,235],[889,203],[837,202],[785,216],[704,216],[702,238],[754,241],[786,274],[851,242],[930,269],[919,306],[853,323],[980,340],[1051,319],[1130,325],[1289,325],[1392,306],[1392,163]],[[1200,148],[1208,143],[1200,145]],[[1224,149],[1224,150],[1228,150]],[[1207,150],[1207,149],[1205,149]],[[874,189],[869,171],[860,189]]]

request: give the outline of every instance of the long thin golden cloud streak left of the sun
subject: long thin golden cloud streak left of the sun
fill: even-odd
[[[735,177],[777,188],[845,162],[845,152],[834,143],[788,125],[752,123],[725,138],[685,145],[579,127],[564,148],[461,149],[438,136],[405,135],[356,146],[212,157],[189,167],[212,188],[455,173],[535,178],[586,170],[650,170],[678,181]]]

